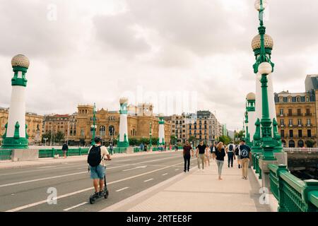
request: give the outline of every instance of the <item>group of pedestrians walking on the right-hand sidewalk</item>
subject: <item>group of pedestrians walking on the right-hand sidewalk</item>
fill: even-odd
[[[237,158],[239,169],[242,168],[242,179],[247,179],[247,169],[249,160],[251,159],[251,149],[246,145],[245,141],[240,141],[235,145],[232,141],[225,145],[223,142],[215,142],[210,147],[200,141],[196,146],[196,158],[198,162],[199,172],[204,172],[205,166],[210,166],[210,160],[215,160],[218,167],[218,179],[222,180],[222,169],[225,156],[228,155],[228,167],[233,167],[233,162]],[[186,141],[183,147],[184,172],[189,172],[190,159],[194,157],[194,150],[189,141]]]

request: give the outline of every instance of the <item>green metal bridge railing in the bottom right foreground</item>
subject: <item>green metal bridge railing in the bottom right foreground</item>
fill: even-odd
[[[271,192],[278,201],[278,212],[318,212],[318,181],[302,181],[285,165],[269,164]]]

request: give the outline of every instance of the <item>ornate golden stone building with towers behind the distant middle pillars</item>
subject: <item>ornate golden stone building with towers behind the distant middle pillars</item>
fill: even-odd
[[[151,104],[141,104],[138,107],[127,107],[127,129],[129,138],[149,138],[150,124],[152,124],[152,137],[158,138],[159,118],[153,114]],[[119,111],[98,109],[95,112],[97,136],[103,141],[111,142],[119,134]],[[71,142],[79,145],[88,145],[93,136],[93,105],[78,105],[76,115],[76,133],[70,136]],[[165,141],[170,143],[171,125],[165,124]]]

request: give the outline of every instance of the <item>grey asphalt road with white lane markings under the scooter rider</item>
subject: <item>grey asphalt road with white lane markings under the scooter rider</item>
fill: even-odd
[[[192,166],[196,161],[192,158]],[[0,211],[98,211],[183,172],[180,152],[137,155],[107,161],[110,196],[89,203],[93,184],[86,161],[0,170]],[[57,191],[57,204],[47,203]],[[52,191],[51,191],[52,192]]]

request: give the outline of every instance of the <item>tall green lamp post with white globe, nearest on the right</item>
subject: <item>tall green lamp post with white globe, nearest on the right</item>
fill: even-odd
[[[260,37],[260,48],[259,53],[255,55],[257,57],[256,62],[253,66],[254,73],[259,73],[261,75],[261,142],[260,146],[263,149],[263,160],[273,161],[276,160],[276,157],[273,155],[273,149],[276,146],[276,141],[272,136],[272,121],[269,117],[269,97],[268,97],[268,79],[267,76],[273,72],[274,64],[271,62],[271,54],[265,49],[265,32],[266,28],[264,26],[263,16],[264,9],[267,6],[266,0],[257,0],[255,2],[255,8],[259,11],[259,37]],[[269,46],[266,43],[267,47]],[[271,47],[273,44],[271,43]],[[269,50],[269,49],[267,49]]]

